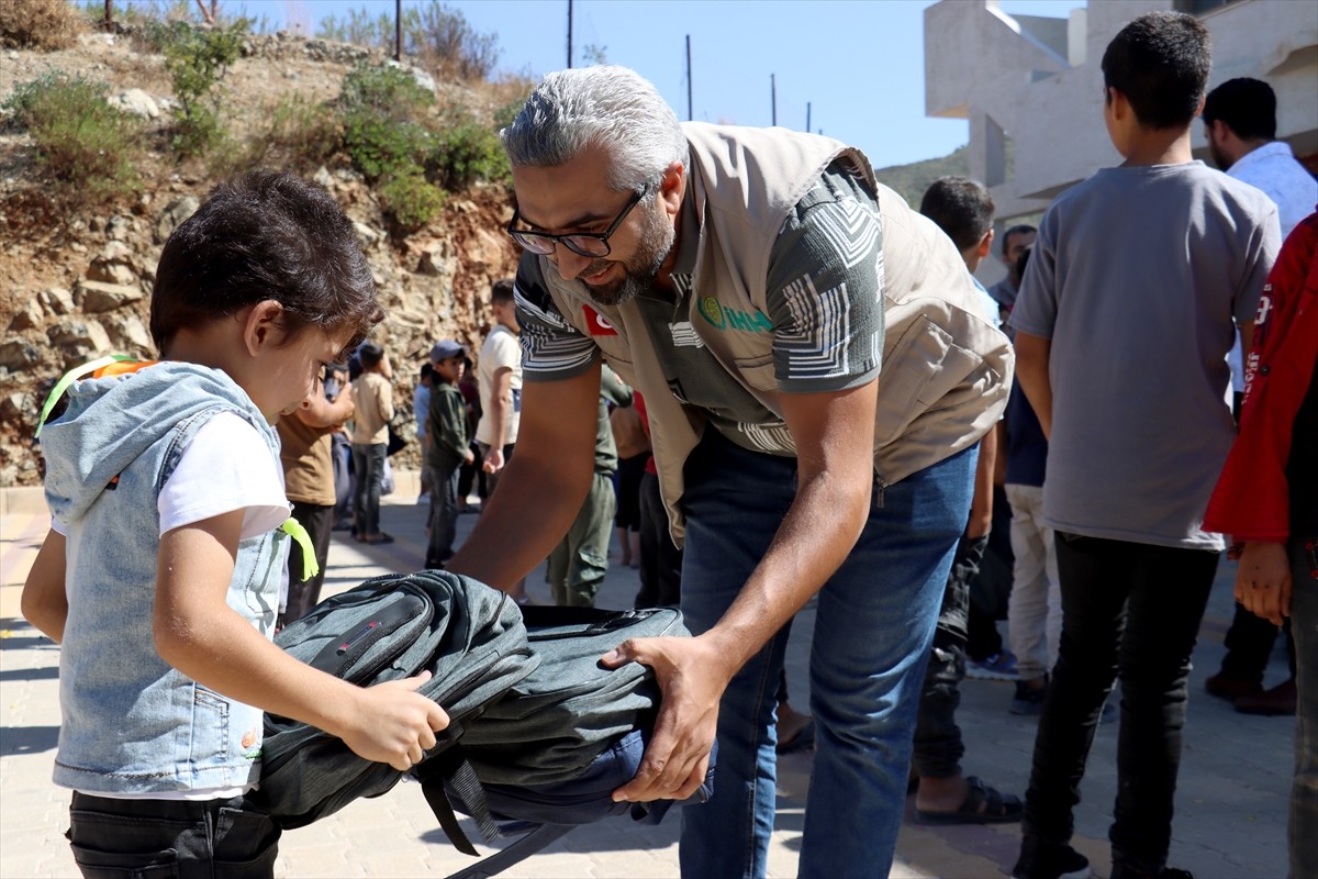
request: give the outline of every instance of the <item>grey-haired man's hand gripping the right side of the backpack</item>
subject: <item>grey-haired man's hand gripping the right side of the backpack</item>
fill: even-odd
[[[663,702],[637,776],[613,800],[685,800],[705,780],[718,731],[718,700],[735,668],[700,638],[631,638],[605,655],[605,667],[635,662],[655,672]]]

